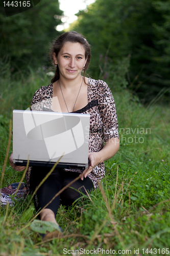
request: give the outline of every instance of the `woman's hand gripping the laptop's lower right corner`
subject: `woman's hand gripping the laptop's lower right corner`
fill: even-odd
[[[81,177],[81,180],[83,180],[84,178],[87,177],[87,175],[89,173],[91,173],[92,169],[98,165],[99,163],[101,163],[101,157],[100,157],[100,152],[91,152],[91,153],[88,153],[88,159],[89,159],[89,166],[88,168],[86,168],[84,170],[84,172],[81,174],[82,177]]]

